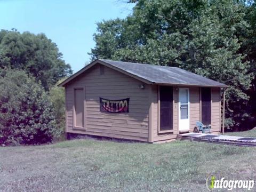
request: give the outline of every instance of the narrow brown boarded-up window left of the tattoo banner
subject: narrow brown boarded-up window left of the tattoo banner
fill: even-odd
[[[84,127],[84,89],[75,89],[75,126]]]

